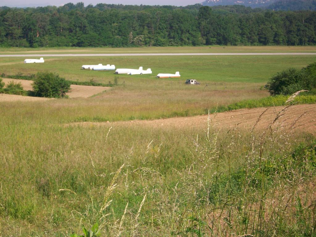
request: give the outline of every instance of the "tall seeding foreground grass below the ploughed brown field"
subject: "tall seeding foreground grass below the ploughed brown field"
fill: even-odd
[[[315,235],[310,137],[278,115],[251,131],[218,131],[213,116],[172,131],[2,116],[1,233],[68,236],[99,222],[102,236]]]

